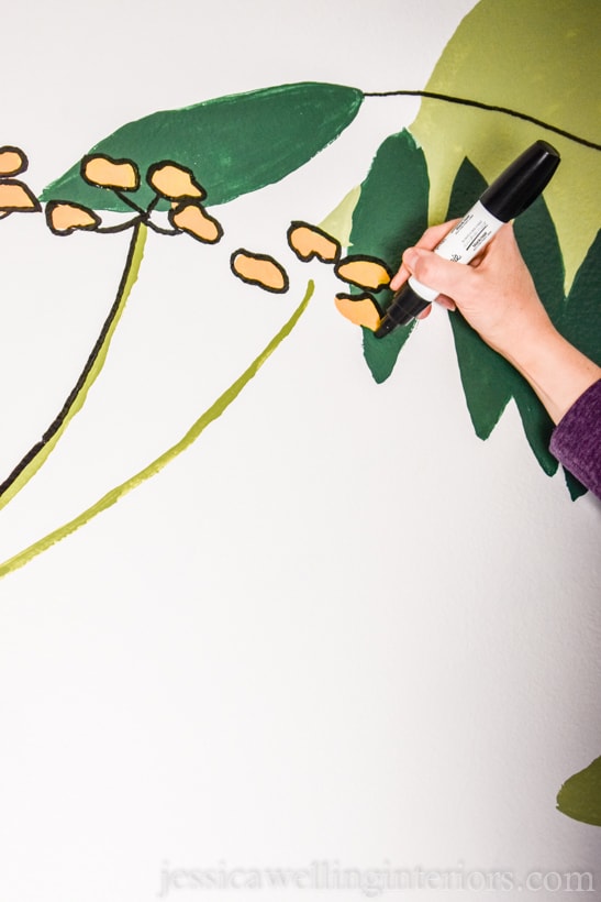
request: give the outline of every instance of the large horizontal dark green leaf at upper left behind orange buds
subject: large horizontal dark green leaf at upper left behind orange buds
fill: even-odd
[[[281,85],[220,97],[180,110],[152,113],[118,129],[90,154],[132,160],[142,175],[127,193],[146,209],[154,199],[144,176],[153,163],[170,160],[192,170],[209,206],[279,182],[298,169],[356,117],[364,95],[320,82]],[[127,211],[112,190],[87,184],[76,163],[43,191],[42,200],[66,200],[94,210]],[[159,209],[168,209],[162,200]]]

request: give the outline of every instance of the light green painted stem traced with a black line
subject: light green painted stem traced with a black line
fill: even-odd
[[[137,278],[140,264],[144,255],[144,244],[146,242],[147,228],[138,222],[132,235],[127,260],[121,276],[119,290],[109,316],[107,317],[100,336],[86,362],[81,375],[79,376],[69,397],[63,408],[55,417],[51,426],[44,432],[42,439],[27,451],[23,459],[16,464],[10,475],[0,485],[0,510],[25,486],[34,476],[46,459],[54,451],[67,426],[79,410],[84,407],[88,392],[98,378],[111,343],[114,331],[118,327],[121,315],[130,297],[132,287]]]

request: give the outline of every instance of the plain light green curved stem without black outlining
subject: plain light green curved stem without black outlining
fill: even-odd
[[[186,451],[186,449],[198,439],[200,433],[204,431],[209,424],[213,422],[213,420],[218,419],[218,417],[221,417],[232,402],[237,398],[244,386],[247,385],[253,376],[255,376],[260,370],[265,361],[274,353],[276,348],[283,341],[285,338],[287,338],[287,336],[290,334],[300,317],[307,309],[307,305],[311,299],[313,290],[314,283],[310,280],[302,301],[280,331],[271,339],[269,344],[266,345],[266,348],[260,352],[258,358],[253,361],[248,369],[244,371],[244,373],[230,386],[230,388],[226,388],[225,392],[220,395],[220,397],[198,418],[198,420],[190,427],[186,435],[178,442],[176,442],[176,444],[171,446],[167,451],[156,458],[152,463],[145,466],[144,470],[141,470],[134,476],[131,476],[129,480],[121,483],[121,485],[112,488],[96,504],[84,510],[78,517],[64,524],[53,532],[48,532],[48,535],[44,536],[44,538],[38,539],[33,544],[29,546],[29,548],[23,549],[23,551],[20,551],[13,558],[10,558],[8,561],[4,561],[4,563],[0,564],[0,579],[2,579],[2,576],[7,576],[9,573],[12,573],[14,570],[19,570],[19,568],[24,566],[33,560],[33,558],[37,557],[37,554],[41,554],[43,551],[47,551],[48,548],[60,541],[60,539],[65,539],[67,536],[70,536],[71,532],[75,532],[80,526],[85,526],[85,524],[98,514],[101,514],[103,510],[112,507],[112,505],[116,504],[120,498],[136,488],[146,480],[155,476],[158,472],[160,472],[160,470],[163,470],[164,466],[179,457],[182,451]]]

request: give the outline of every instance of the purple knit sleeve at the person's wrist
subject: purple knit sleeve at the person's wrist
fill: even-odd
[[[587,388],[559,420],[550,452],[601,498],[601,380]]]

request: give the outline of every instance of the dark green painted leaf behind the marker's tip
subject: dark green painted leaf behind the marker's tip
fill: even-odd
[[[378,257],[396,272],[404,249],[427,228],[429,191],[427,166],[415,139],[407,130],[387,138],[374,157],[353,213],[353,253]],[[352,293],[357,289],[352,287]],[[391,298],[387,288],[378,294],[378,304],[386,308]],[[383,339],[364,328],[364,355],[377,383],[391,374],[414,326],[413,321],[399,327]]]

